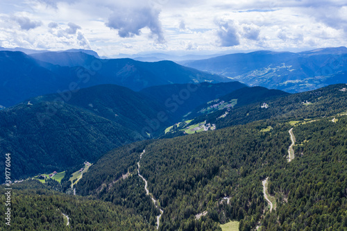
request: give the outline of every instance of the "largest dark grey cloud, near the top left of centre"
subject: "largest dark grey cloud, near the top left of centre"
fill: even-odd
[[[142,28],[149,28],[151,37],[158,43],[164,43],[159,14],[160,10],[149,6],[115,8],[105,25],[118,30],[120,37],[134,37],[141,34]]]

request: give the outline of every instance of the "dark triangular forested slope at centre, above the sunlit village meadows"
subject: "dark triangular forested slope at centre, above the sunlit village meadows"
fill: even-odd
[[[142,89],[139,93],[164,105],[166,110],[180,121],[183,116],[202,103],[217,99],[246,85],[239,82],[172,84]]]

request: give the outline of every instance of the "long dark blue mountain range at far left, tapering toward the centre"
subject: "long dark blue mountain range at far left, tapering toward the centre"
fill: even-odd
[[[101,84],[139,90],[153,85],[228,80],[171,61],[101,60],[82,52],[44,53],[37,57],[42,60],[18,51],[0,51],[0,105],[9,107],[31,97]]]

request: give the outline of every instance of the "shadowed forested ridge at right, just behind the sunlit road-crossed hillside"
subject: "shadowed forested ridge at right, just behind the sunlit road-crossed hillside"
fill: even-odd
[[[230,110],[226,117],[221,117],[222,110],[196,118],[196,121],[207,120],[215,123],[217,128],[226,128],[236,124],[249,123],[261,119],[294,119],[303,120],[315,117],[329,117],[340,112],[346,112],[347,94],[340,91],[347,85],[330,85],[311,92],[290,94],[277,99],[264,99],[258,103],[245,105]],[[266,108],[262,108],[264,103]]]

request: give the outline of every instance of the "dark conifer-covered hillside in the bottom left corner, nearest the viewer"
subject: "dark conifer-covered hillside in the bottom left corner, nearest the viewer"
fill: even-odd
[[[155,230],[131,209],[51,191],[36,180],[12,188],[10,230]],[[0,201],[4,205],[3,187],[0,192]],[[5,209],[5,206],[0,207],[1,214]],[[7,230],[8,225],[1,222],[0,229]]]

